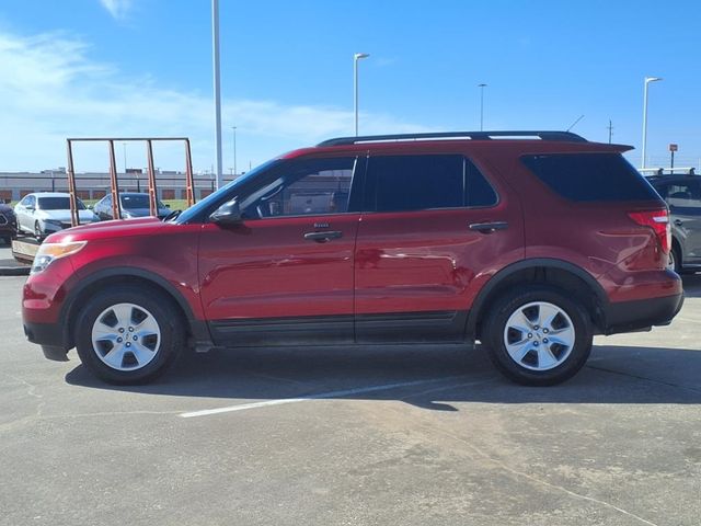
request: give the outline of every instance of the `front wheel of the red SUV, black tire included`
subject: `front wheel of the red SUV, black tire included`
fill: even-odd
[[[124,305],[133,306],[128,310],[131,321],[120,323],[115,311],[110,309],[117,308],[125,311],[122,307]],[[100,320],[99,317],[101,317]],[[154,330],[143,335],[145,331],[141,329],[147,320],[149,327],[157,328],[154,330],[158,331],[158,336],[152,334]],[[113,322],[115,322],[114,325]],[[125,285],[100,290],[82,308],[74,327],[76,347],[81,362],[91,373],[108,384],[147,384],[162,375],[185,347],[184,321],[172,299],[148,287]],[[97,345],[94,345],[93,328],[114,328],[114,335],[122,338],[120,343],[112,343],[105,335],[105,340],[99,340]],[[134,332],[129,332],[133,329]],[[134,341],[130,342],[131,339]],[[126,347],[131,343],[134,347],[127,350]],[[119,348],[116,348],[116,345],[119,345]],[[113,350],[115,353],[111,355]],[[150,361],[143,359],[141,365],[137,357],[140,353],[137,351],[151,356]],[[110,356],[115,357],[110,358]],[[107,363],[110,359],[119,359],[119,356],[118,365],[111,366]]]

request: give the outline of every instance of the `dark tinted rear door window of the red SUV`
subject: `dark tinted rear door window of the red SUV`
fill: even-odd
[[[368,208],[377,211],[489,206],[496,194],[462,156],[374,157]]]

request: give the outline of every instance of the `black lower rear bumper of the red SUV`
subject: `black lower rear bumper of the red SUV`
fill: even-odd
[[[668,325],[683,305],[683,293],[662,298],[609,304],[605,334],[632,332],[653,325]]]

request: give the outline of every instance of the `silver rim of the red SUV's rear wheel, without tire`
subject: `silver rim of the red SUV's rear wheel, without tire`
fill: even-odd
[[[516,309],[504,328],[510,358],[530,370],[550,370],[567,359],[576,338],[574,324],[560,307],[533,301]]]

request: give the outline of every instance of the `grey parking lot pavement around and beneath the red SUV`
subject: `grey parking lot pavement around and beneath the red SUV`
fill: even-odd
[[[24,281],[0,277],[2,525],[701,521],[701,274],[670,327],[597,338],[542,389],[455,346],[211,353],[110,387],[25,341]]]

